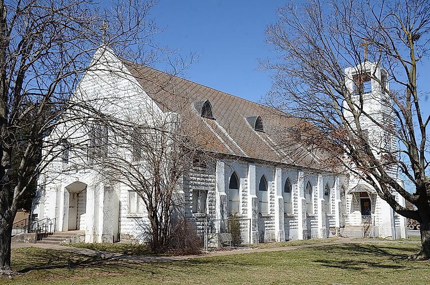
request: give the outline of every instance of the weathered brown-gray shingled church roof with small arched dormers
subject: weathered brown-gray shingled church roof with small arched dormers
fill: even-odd
[[[322,154],[314,155],[295,143],[294,130],[300,122],[275,108],[257,104],[198,83],[124,61],[141,87],[163,111],[191,114],[203,120],[202,143],[221,154],[259,159],[274,163],[325,168]],[[209,100],[215,120],[200,117],[203,103]],[[189,115],[187,115],[189,116]],[[264,131],[253,129],[257,116]],[[185,116],[184,116],[185,117]]]

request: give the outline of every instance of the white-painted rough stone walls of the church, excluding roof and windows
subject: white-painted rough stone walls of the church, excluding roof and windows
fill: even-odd
[[[167,116],[119,59],[109,52],[103,56],[106,61],[114,63],[114,67],[104,65],[101,69],[103,71],[95,70],[85,74],[76,96],[88,99],[96,98],[102,93],[103,96],[109,94],[110,104],[103,108],[124,118],[132,116],[133,112]],[[121,70],[122,76],[117,76],[114,71],[109,72],[112,69]],[[109,82],[114,82],[116,88],[110,88]],[[118,91],[118,86],[121,86],[121,92]],[[97,100],[95,104],[98,104]],[[375,102],[372,105],[377,106]],[[78,132],[79,126],[65,126],[65,129]],[[228,132],[224,131],[228,137]],[[79,165],[79,162],[75,161],[74,165]],[[46,172],[40,178],[43,187],[33,210],[33,214],[37,214],[39,219],[56,218],[56,231],[85,231],[87,243],[120,240],[141,243],[147,240],[149,223],[145,207],[140,205],[142,210],[138,211],[139,197],[133,196],[125,185],[109,185],[91,170],[83,166],[70,169],[61,161],[51,162],[48,169],[58,171]],[[196,223],[197,229],[203,230],[203,225],[199,222],[202,214],[192,213],[192,190],[207,191],[206,211],[203,215],[213,219],[227,219],[228,187],[233,173],[239,179],[237,214],[251,220],[252,243],[326,238],[336,234],[363,237],[363,233],[358,230],[362,228],[361,201],[366,197],[360,197],[360,193],[364,192],[354,190],[363,185],[362,182],[353,177],[295,165],[274,166],[269,162],[240,157],[219,158],[207,168],[195,168],[184,179],[180,195],[186,202],[185,205],[189,205],[185,207],[184,215]],[[259,193],[262,177],[267,181],[267,191],[263,194],[262,191]],[[287,181],[291,183],[290,193],[284,192]],[[307,188],[308,184],[310,188]],[[324,195],[326,187],[329,189],[328,195]],[[310,193],[306,193],[309,189]],[[372,236],[405,238],[406,219],[395,214],[374,191],[369,192],[365,193],[371,202]],[[394,194],[400,205],[405,205],[403,198]],[[286,204],[285,199],[289,200]],[[267,200],[265,212],[260,209],[263,200]],[[284,210],[284,207],[289,209]],[[215,226],[221,227],[222,224]]]

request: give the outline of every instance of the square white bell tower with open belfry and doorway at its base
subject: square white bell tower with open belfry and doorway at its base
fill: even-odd
[[[367,46],[365,46],[367,48]],[[366,51],[366,50],[365,50]],[[357,129],[356,119],[361,134],[367,138],[372,154],[384,163],[385,172],[398,183],[397,165],[390,164],[392,157],[397,158],[397,144],[394,136],[395,117],[393,101],[389,96],[388,72],[378,63],[365,60],[356,67],[345,69],[345,84],[348,98],[343,101],[344,116],[351,127]],[[349,104],[348,104],[349,103]],[[357,134],[358,135],[358,134]],[[364,155],[364,148],[357,150]],[[363,146],[364,147],[364,146]],[[360,177],[351,174],[347,197],[347,219],[345,234],[367,237],[406,237],[405,220],[379,197],[376,189]],[[400,205],[405,201],[396,192],[392,193]],[[357,236],[357,237],[358,237]],[[363,236],[361,236],[363,237]]]

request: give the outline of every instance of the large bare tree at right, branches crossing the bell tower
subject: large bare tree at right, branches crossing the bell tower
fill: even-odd
[[[278,14],[267,40],[280,55],[263,63],[275,71],[269,102],[311,122],[324,135],[304,138],[309,146],[324,149],[329,137],[342,153],[337,165],[419,221],[422,249],[411,258],[430,258],[430,117],[421,105],[428,91],[417,84],[428,56],[429,2],[314,0]],[[393,191],[416,210],[397,203]]]

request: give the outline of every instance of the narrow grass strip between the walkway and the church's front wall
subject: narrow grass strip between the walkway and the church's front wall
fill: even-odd
[[[149,246],[144,244],[126,244],[126,243],[71,243],[64,244],[79,248],[88,248],[94,250],[103,250],[117,252],[127,255],[140,255],[142,257],[168,256],[168,254],[156,254],[151,251]]]

